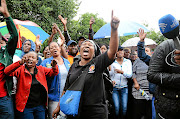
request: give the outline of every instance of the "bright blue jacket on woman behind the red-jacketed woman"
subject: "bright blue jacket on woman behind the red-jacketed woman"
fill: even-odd
[[[51,61],[53,60],[53,56],[50,58],[45,59],[41,65],[44,67],[48,67],[51,68]],[[63,58],[64,61],[64,65],[67,69],[67,71],[69,71],[70,68],[70,63],[67,59]],[[58,67],[59,68],[59,67]],[[48,97],[50,100],[52,101],[59,101],[60,99],[60,80],[61,80],[61,72],[59,69],[59,74],[57,76],[54,77],[50,77],[50,79],[47,78],[47,83],[48,83]]]

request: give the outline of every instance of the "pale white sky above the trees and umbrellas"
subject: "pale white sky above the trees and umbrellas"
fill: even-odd
[[[139,24],[148,24],[148,29],[159,31],[158,20],[172,14],[180,20],[179,0],[79,0],[81,5],[76,20],[84,13],[98,13],[99,18],[110,22],[111,11],[120,21],[134,21]]]

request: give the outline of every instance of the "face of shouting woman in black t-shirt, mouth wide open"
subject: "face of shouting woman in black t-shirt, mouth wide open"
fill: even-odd
[[[94,57],[94,45],[90,41],[83,42],[81,44],[80,54],[85,60],[92,59]]]

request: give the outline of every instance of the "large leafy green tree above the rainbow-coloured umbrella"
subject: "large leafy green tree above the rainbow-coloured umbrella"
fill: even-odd
[[[78,0],[7,0],[11,16],[19,20],[30,20],[51,33],[52,23],[59,22],[58,15],[71,21],[77,13]]]

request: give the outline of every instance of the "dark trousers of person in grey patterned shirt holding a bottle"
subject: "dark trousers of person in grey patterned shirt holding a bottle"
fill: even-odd
[[[133,100],[133,119],[152,119],[152,100]]]

